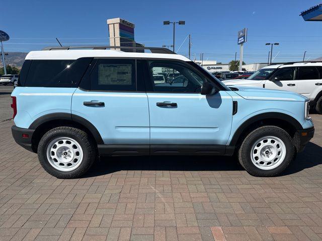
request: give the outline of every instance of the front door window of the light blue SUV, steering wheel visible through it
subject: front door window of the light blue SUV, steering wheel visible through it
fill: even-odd
[[[201,85],[205,81],[195,71],[182,63],[173,61],[149,61],[151,77],[162,71],[168,73],[164,82],[152,78],[155,92],[200,92]]]

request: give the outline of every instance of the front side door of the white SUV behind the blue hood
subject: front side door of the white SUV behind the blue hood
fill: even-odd
[[[279,68],[269,80],[265,81],[265,88],[297,92],[298,81],[295,76],[296,67]]]

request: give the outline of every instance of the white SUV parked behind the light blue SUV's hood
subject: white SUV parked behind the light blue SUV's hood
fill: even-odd
[[[288,90],[309,98],[310,106],[322,114],[322,62],[268,65],[248,79],[222,81],[225,85]]]

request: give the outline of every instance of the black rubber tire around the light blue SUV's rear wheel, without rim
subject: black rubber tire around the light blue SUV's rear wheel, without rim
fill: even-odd
[[[83,159],[76,169],[71,171],[61,171],[54,168],[47,158],[48,145],[59,137],[66,137],[75,140],[81,146]],[[96,158],[96,148],[94,142],[88,134],[82,130],[72,127],[57,127],[48,131],[40,140],[38,145],[38,159],[41,166],[50,175],[57,178],[77,178],[84,175],[92,166]]]

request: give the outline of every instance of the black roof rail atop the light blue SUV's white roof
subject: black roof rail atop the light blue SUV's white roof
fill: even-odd
[[[176,54],[170,49],[167,48],[158,48],[158,47],[129,47],[129,46],[56,46],[56,47],[46,47],[42,50],[70,50],[70,49],[137,49],[145,50],[148,49],[151,53],[154,54]]]

